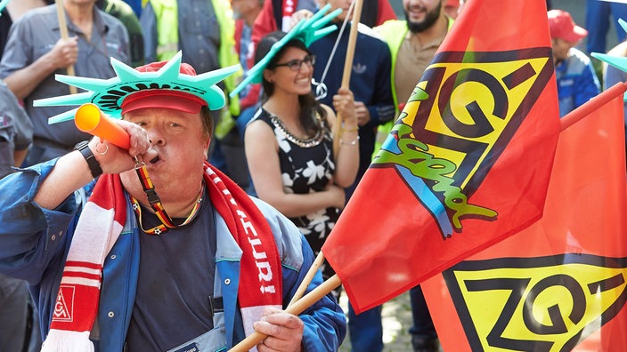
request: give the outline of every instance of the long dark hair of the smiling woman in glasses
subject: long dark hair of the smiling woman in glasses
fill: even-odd
[[[260,60],[264,59],[265,55],[270,52],[270,48],[272,48],[273,44],[281,40],[281,38],[285,36],[285,33],[281,31],[272,32],[266,36],[264,36],[259,44],[256,47],[255,52],[255,63],[258,63]],[[303,50],[311,55],[312,52],[307,49],[305,44],[299,39],[292,39],[283,47],[281,50],[277,52],[272,60],[268,62],[268,65],[265,67],[266,69],[274,70],[276,64],[279,62],[283,54],[288,48],[297,48]],[[265,100],[268,100],[268,97],[271,97],[274,93],[274,84],[268,82],[264,76],[262,76],[262,86],[264,87],[264,96],[262,98],[262,104]],[[321,124],[316,121],[315,114],[318,113],[320,118],[322,118],[322,126],[324,126],[327,130],[329,129],[329,123],[327,122],[327,112],[322,108],[320,103],[315,100],[314,93],[310,92],[305,95],[298,96],[298,102],[300,103],[300,124],[305,129],[305,132],[309,135],[314,135],[321,127]]]

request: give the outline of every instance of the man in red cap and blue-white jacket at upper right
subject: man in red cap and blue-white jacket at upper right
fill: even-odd
[[[588,31],[563,10],[548,12],[555,76],[558,81],[559,116],[566,116],[600,92],[590,58],[575,48]]]

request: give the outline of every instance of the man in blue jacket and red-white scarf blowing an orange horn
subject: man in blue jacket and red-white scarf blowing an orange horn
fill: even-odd
[[[268,335],[260,351],[337,350],[346,321],[331,294],[282,310],[314,260],[304,236],[206,161],[224,73],[197,76],[180,56],[133,75],[117,65],[122,85],[146,84],[114,107],[128,150],[93,138],[0,180],[0,272],[31,284],[44,350],[223,350],[253,328]]]

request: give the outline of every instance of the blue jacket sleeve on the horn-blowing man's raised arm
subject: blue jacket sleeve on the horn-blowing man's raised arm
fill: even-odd
[[[39,284],[50,266],[60,264],[77,208],[74,196],[54,210],[33,200],[56,160],[0,180],[0,273],[25,279],[28,284]]]

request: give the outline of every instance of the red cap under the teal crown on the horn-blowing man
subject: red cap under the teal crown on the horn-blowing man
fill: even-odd
[[[151,62],[135,68],[139,72],[156,72],[167,64],[167,61]],[[196,70],[190,64],[181,63],[179,72],[183,75],[196,76]],[[207,101],[194,94],[174,89],[146,89],[134,92],[122,101],[122,114],[140,108],[171,108],[186,113],[197,114]]]

